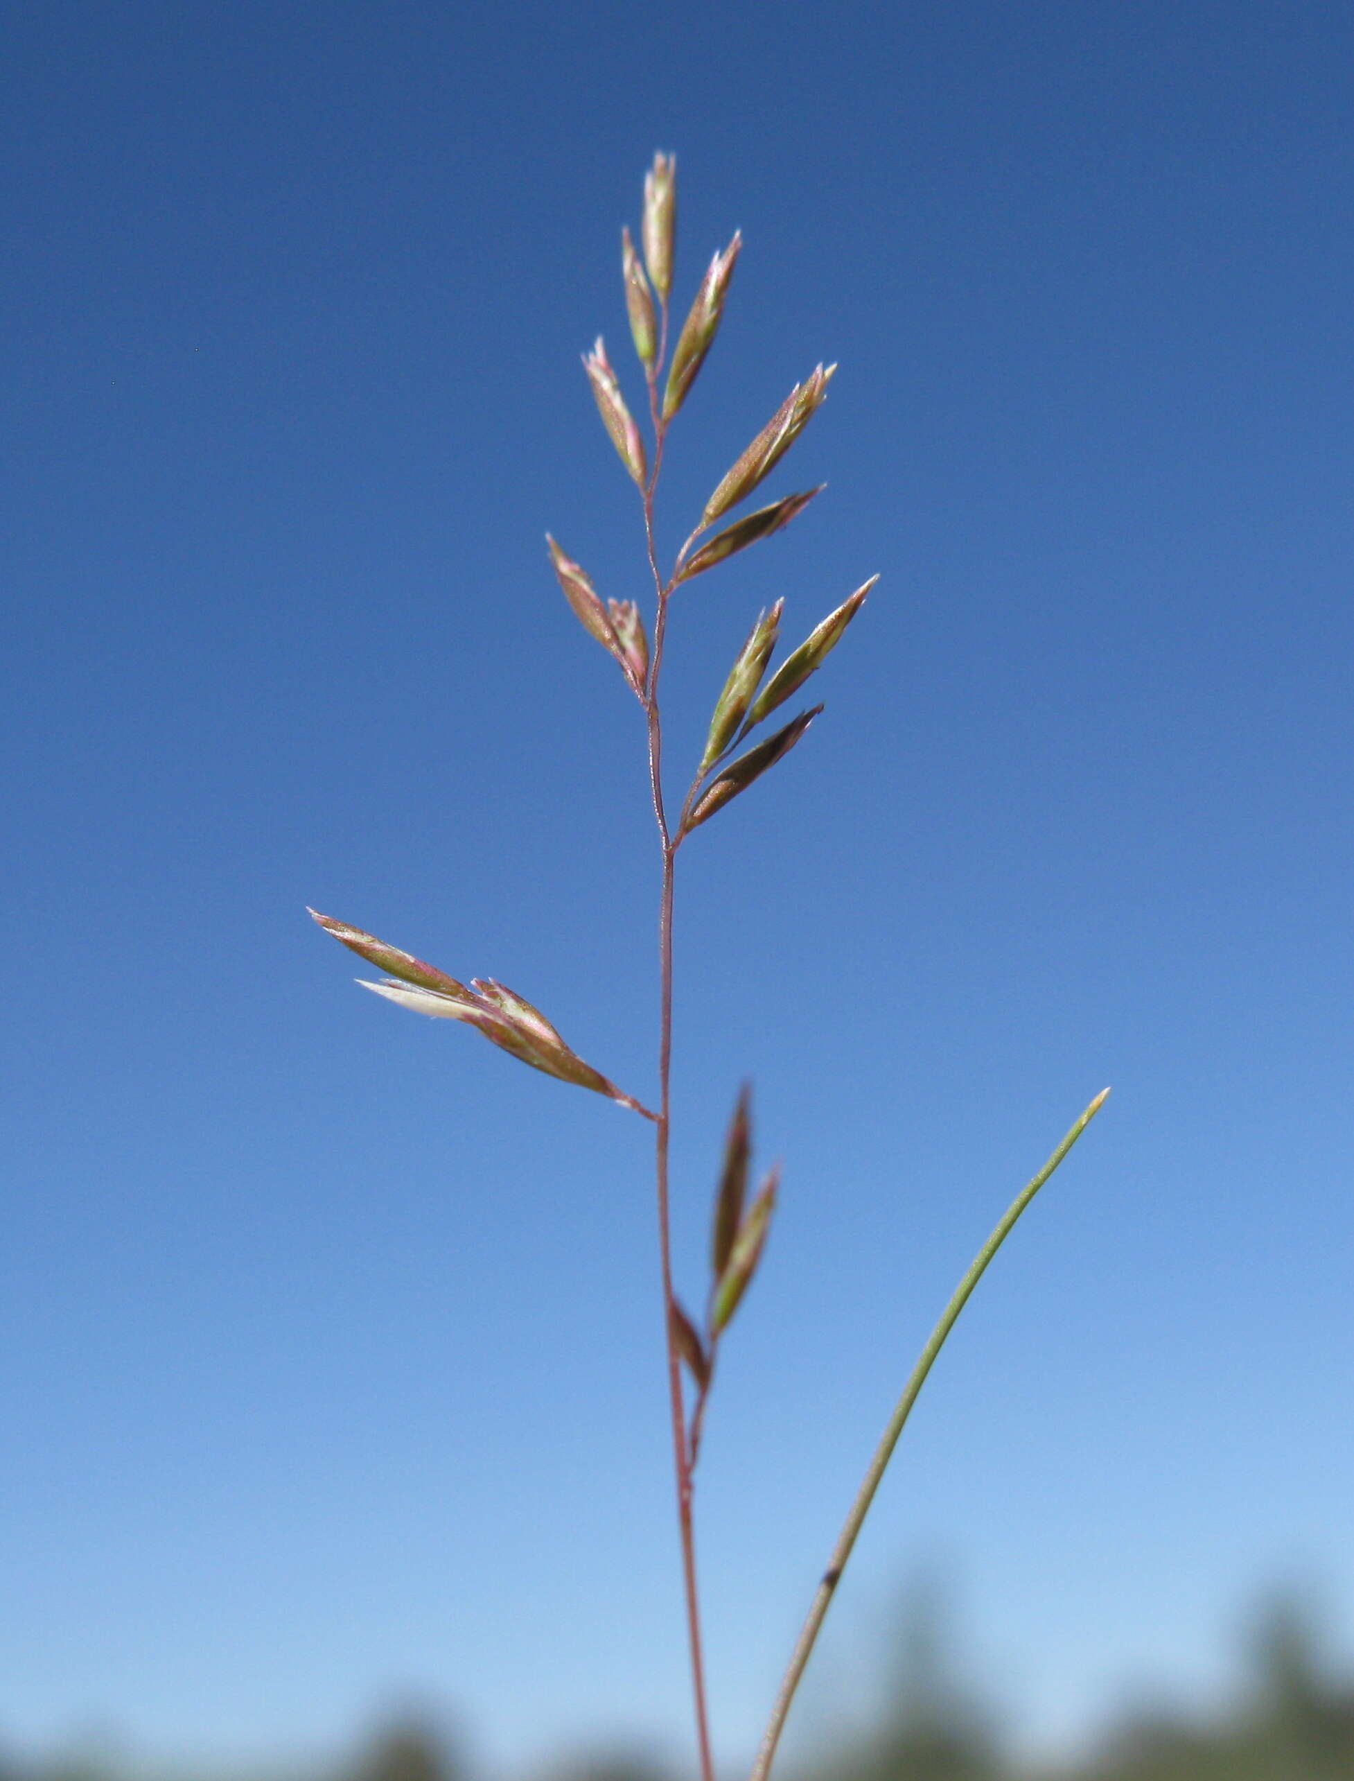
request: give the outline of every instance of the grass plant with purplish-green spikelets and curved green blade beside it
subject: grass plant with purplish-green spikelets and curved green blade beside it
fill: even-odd
[[[548,536],[546,545],[564,598],[569,602],[584,630],[616,659],[621,679],[639,700],[644,714],[653,817],[662,853],[657,1110],[617,1088],[616,1083],[591,1063],[585,1063],[537,1008],[504,983],[493,978],[475,978],[470,983],[461,983],[445,971],[423,964],[400,947],[377,940],[361,928],[334,921],[331,915],[320,915],[315,910],[311,910],[311,915],[327,933],[383,972],[375,983],[359,980],[365,988],[416,1013],[461,1021],[466,1026],[477,1028],[488,1040],[521,1063],[528,1063],[566,1083],[575,1083],[580,1088],[591,1088],[594,1094],[608,1095],[612,1101],[635,1111],[641,1118],[653,1122],[662,1316],[667,1332],[667,1400],[673,1428],[673,1476],[681,1542],[696,1745],[701,1781],[713,1781],[715,1767],[706,1712],[701,1605],[696,1571],[694,1480],[719,1348],[762,1263],[767,1234],[776,1213],[779,1172],[772,1168],[762,1177],[756,1190],[749,1191],[753,1183],[753,1120],[751,1097],[747,1088],[744,1088],[729,1122],[713,1195],[705,1311],[701,1316],[692,1316],[678,1297],[673,1279],[669,1216],[676,858],[697,828],[742,796],[763,773],[776,768],[802,741],[810,725],[822,712],[822,705],[806,705],[786,723],[778,725],[770,732],[762,732],[760,739],[753,739],[753,736],[762,730],[762,725],[772,712],[779,712],[785,703],[795,698],[824,666],[831,650],[836,648],[847,627],[859,614],[877,577],[861,582],[854,593],[810,630],[804,641],[770,675],[767,671],[779,643],[785,602],[776,600],[756,616],[747,641],[738,652],[728,680],[715,700],[708,737],[694,777],[681,801],[676,803],[673,800],[669,805],[664,780],[664,720],[660,705],[669,611],[685,582],[696,575],[708,573],[728,557],[779,533],[799,518],[820,493],[818,488],[810,488],[779,495],[767,506],[744,513],[742,518],[728,520],[728,515],[762,486],[818,408],[822,408],[836,367],[820,363],[802,383],[797,383],[790,390],[770,420],[756,433],[747,449],[715,486],[696,527],[678,550],[671,568],[664,573],[655,543],[655,502],[667,452],[667,436],[719,333],[729,285],[742,251],[742,237],[735,233],[728,248],[717,251],[710,260],[674,342],[669,338],[676,258],[676,159],[673,155],[655,155],[653,167],[644,180],[641,244],[641,249],[637,249],[630,230],[623,230],[621,280],[630,333],[646,386],[648,443],[644,431],[626,404],[621,379],[612,367],[601,338],[596,340],[591,353],[584,354],[584,370],[592,388],[601,422],[639,497],[644,552],[653,579],[649,622],[646,623],[637,602],[603,600],[592,586],[589,573],[553,538]],[[719,522],[726,524],[721,525]],[[676,816],[671,810],[676,810]],[[767,1781],[770,1774],[781,1729],[794,1703],[799,1679],[804,1674],[856,1537],[911,1407],[950,1329],[1025,1208],[1068,1156],[1103,1106],[1107,1095],[1108,1090],[1103,1090],[1094,1097],[1039,1174],[1011,1204],[961,1279],[931,1339],[922,1350],[922,1357],[907,1378],[902,1396],[888,1419],[884,1435],[866,1468],[845,1526],[833,1548],[827,1569],[822,1573],[813,1592],[785,1681],[770,1710],[767,1733],[753,1767],[753,1781]]]

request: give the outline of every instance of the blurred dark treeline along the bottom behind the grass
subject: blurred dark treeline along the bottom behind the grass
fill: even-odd
[[[1020,1761],[947,1651],[925,1592],[904,1622],[874,1722],[838,1735],[779,1781],[1354,1781],[1354,1678],[1327,1662],[1315,1619],[1292,1599],[1256,1617],[1245,1674],[1226,1706],[1124,1708],[1076,1756]],[[0,1751],[0,1781],[139,1781],[125,1761],[91,1756],[20,1763]],[[222,1781],[157,1769],[153,1781]],[[244,1781],[479,1781],[454,1738],[416,1715],[391,1720],[352,1756],[306,1772]],[[560,1761],[514,1781],[690,1781],[687,1769],[639,1758]]]

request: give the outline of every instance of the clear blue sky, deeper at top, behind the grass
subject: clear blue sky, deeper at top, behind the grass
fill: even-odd
[[[751,1751],[891,1396],[1014,1188],[802,1728],[943,1555],[1030,1735],[1354,1601],[1350,276],[1336,5],[7,9],[0,1742],[687,1749],[649,1134],[352,988],[302,905],[655,1078],[642,590],[578,351],[680,157],[724,331],[665,547],[820,358],[792,533],[883,581],[681,858],[676,1241],[785,1159],[701,1476]],[[817,1701],[817,1706],[813,1704]],[[676,1740],[681,1740],[680,1744]]]

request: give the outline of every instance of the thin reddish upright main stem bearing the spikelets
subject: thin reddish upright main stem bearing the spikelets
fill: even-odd
[[[673,1227],[669,1216],[667,1193],[667,1138],[673,1111],[673,867],[681,835],[669,834],[664,809],[664,727],[658,712],[658,671],[664,661],[664,638],[667,632],[667,597],[671,584],[664,584],[658,570],[658,556],[653,540],[653,492],[658,486],[658,472],[664,461],[664,438],[667,426],[658,411],[658,369],[667,346],[667,303],[662,313],[662,338],[658,362],[649,370],[649,413],[653,417],[655,452],[649,481],[642,490],[644,497],[644,541],[649,554],[649,570],[658,595],[658,609],[653,623],[653,663],[649,666],[649,684],[644,696],[644,711],[649,727],[649,791],[653,793],[653,816],[658,823],[658,839],[664,850],[664,889],[658,905],[658,971],[660,971],[660,1013],[658,1013],[658,1126],[655,1138],[655,1175],[658,1186],[658,1254],[664,1275],[664,1336],[667,1341],[667,1396],[673,1411],[673,1464],[676,1471],[678,1526],[681,1530],[681,1580],[687,1596],[687,1642],[690,1646],[690,1685],[696,1704],[696,1742],[701,1753],[701,1781],[715,1781],[715,1765],[710,1754],[710,1715],[705,1704],[705,1655],[701,1649],[701,1601],[696,1585],[696,1528],[692,1521],[692,1459],[687,1446],[687,1405],[681,1395],[681,1355],[673,1330],[673,1313],[676,1295],[673,1291]]]

